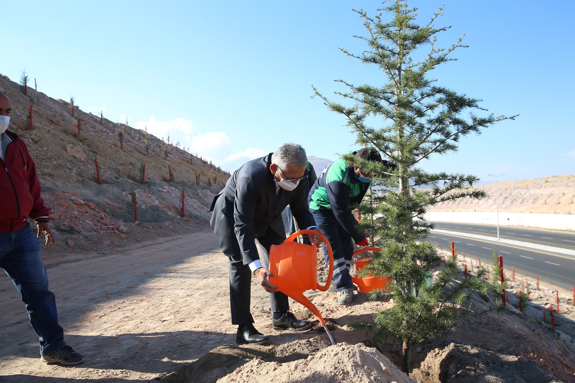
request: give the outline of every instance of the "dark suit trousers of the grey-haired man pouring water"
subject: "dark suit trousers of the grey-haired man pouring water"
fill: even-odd
[[[271,245],[281,245],[285,241],[272,229],[267,229],[266,234],[258,238],[261,245],[263,266],[269,269],[268,254]],[[262,249],[263,247],[263,249]],[[265,251],[263,251],[265,250]],[[233,254],[229,258],[229,301],[232,308],[232,324],[254,323],[250,312],[251,278],[250,266],[244,265],[241,253]],[[258,286],[258,288],[261,288]],[[287,295],[282,292],[270,293],[270,305],[272,312],[289,310]]]

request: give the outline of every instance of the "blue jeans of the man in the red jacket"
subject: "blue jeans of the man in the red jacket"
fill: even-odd
[[[65,346],[56,297],[48,290],[40,243],[30,225],[15,233],[0,233],[0,268],[8,274],[26,304],[30,324],[40,336],[40,354],[51,354]]]

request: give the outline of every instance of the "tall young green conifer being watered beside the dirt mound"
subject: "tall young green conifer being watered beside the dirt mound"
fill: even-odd
[[[436,47],[436,34],[449,28],[434,25],[442,9],[423,26],[416,24],[417,9],[409,8],[407,1],[384,1],[378,10],[382,12],[375,17],[355,11],[366,28],[366,36],[357,37],[367,48],[359,55],[342,51],[363,64],[375,65],[384,83],[356,86],[338,80],[347,90],[336,95],[346,105],[329,100],[315,87],[313,90],[328,109],[347,119],[357,144],[378,150],[397,165],[390,169],[350,154],[344,156],[381,184],[377,194],[371,195],[371,206],[359,207],[363,217],[373,216],[362,220],[362,227],[368,235],[374,234],[374,244],[381,248],[360,274],[391,278],[385,293],[395,301],[389,310],[377,312],[373,321],[355,327],[370,328],[376,338],[392,335],[398,339],[402,343],[401,369],[409,372],[412,345],[453,330],[455,322],[464,318],[457,318],[458,314],[468,313],[463,304],[469,291],[487,294],[493,289],[483,268],[470,279],[461,277],[453,259],[442,268],[436,243],[426,241],[433,228],[424,220],[427,209],[447,200],[484,198],[484,191],[473,188],[478,178],[425,172],[420,163],[434,154],[455,152],[460,138],[516,116],[481,117],[475,113],[484,111],[479,99],[439,86],[431,78],[438,65],[455,60],[451,57],[455,49],[466,47],[462,38],[450,48]],[[384,20],[384,13],[390,20]],[[424,47],[428,51],[422,55],[417,50]],[[436,269],[440,272],[432,277]],[[499,303],[492,310],[500,307]]]

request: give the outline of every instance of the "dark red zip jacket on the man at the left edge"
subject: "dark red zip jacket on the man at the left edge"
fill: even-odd
[[[9,130],[2,138],[0,150],[5,150],[5,160],[0,158],[0,233],[24,229],[28,217],[37,222],[48,222],[49,211],[40,196],[36,165],[26,144]]]

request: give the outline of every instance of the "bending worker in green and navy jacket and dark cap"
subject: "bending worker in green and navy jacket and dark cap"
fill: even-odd
[[[363,160],[392,166],[390,161],[382,160],[373,148],[363,148],[353,153]],[[347,166],[346,161],[340,158],[323,170],[309,192],[310,211],[333,251],[332,283],[338,289],[339,304],[348,305],[354,297],[354,284],[349,270],[354,242],[358,246],[369,246],[366,234],[358,229],[352,207],[362,202],[371,184],[371,177],[370,173],[355,165]]]

